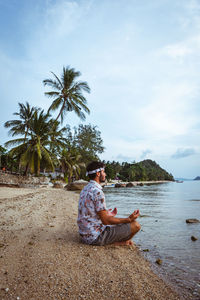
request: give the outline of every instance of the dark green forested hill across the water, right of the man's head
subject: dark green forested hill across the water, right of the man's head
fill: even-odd
[[[151,180],[171,180],[172,174],[162,169],[155,161],[150,159],[138,163],[107,162],[107,179],[121,179],[123,181],[151,181]]]

